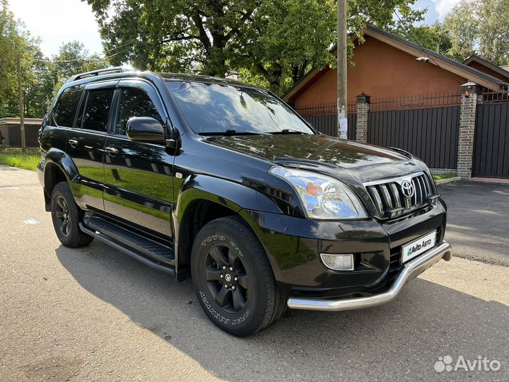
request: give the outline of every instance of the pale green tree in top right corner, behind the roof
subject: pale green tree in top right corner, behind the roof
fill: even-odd
[[[462,61],[478,54],[497,65],[509,64],[509,0],[462,0],[445,17],[447,52]]]

